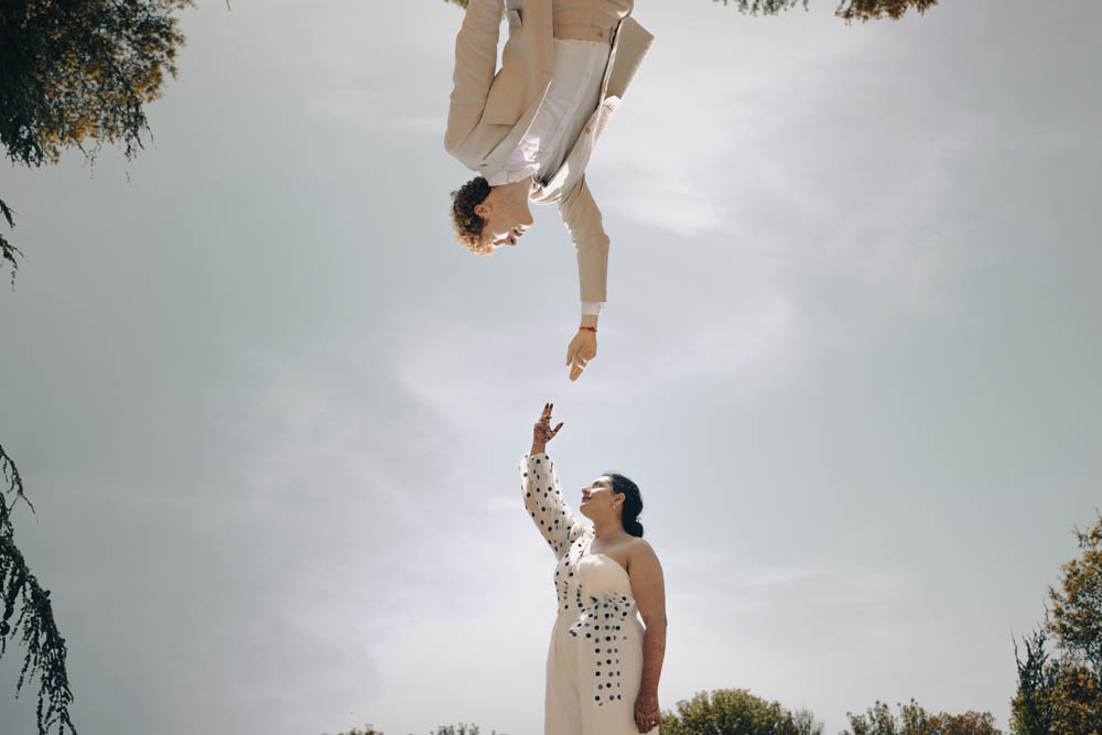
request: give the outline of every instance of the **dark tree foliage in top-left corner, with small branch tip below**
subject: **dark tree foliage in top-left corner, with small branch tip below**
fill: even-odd
[[[89,159],[119,143],[128,159],[148,131],[145,104],[175,76],[184,37],[171,15],[192,0],[6,0],[0,4],[0,143],[12,163]],[[85,148],[91,141],[90,148]],[[0,215],[14,226],[11,207]],[[12,284],[20,250],[0,234]]]

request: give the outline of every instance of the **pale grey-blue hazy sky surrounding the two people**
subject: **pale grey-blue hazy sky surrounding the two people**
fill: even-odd
[[[439,0],[201,2],[134,161],[0,167],[0,443],[82,735],[541,732],[554,560],[517,465],[549,400],[569,499],[642,491],[663,709],[1005,727],[1013,636],[1102,505],[1102,8],[833,8],[637,4],[574,383],[555,209],[452,240]]]

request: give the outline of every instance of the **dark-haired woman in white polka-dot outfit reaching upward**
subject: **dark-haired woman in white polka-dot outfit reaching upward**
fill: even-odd
[[[641,538],[642,498],[627,477],[602,475],[581,493],[580,510],[593,528],[580,523],[547,455],[562,429],[551,429],[552,408],[543,406],[520,463],[525,506],[559,560],[543,734],[658,733],[666,588],[658,556]]]

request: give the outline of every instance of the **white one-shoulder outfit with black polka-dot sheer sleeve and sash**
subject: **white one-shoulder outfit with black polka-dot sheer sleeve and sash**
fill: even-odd
[[[526,456],[520,474],[525,506],[559,560],[543,735],[638,735],[644,627],[631,580],[614,559],[590,552],[593,529],[575,519],[547,454]]]

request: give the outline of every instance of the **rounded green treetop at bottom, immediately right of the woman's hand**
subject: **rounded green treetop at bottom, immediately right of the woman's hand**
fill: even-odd
[[[662,713],[662,735],[822,735],[823,726],[807,710],[793,714],[744,689],[698,692]]]

